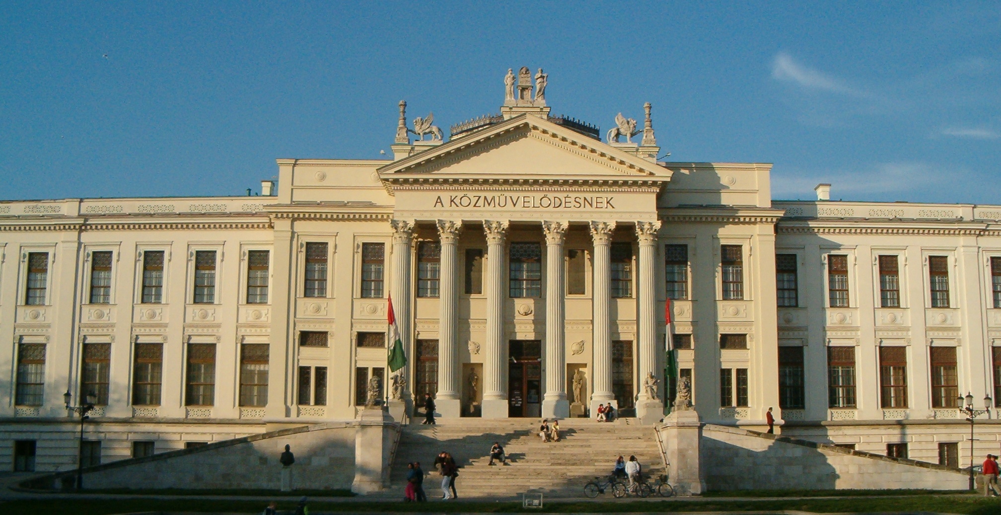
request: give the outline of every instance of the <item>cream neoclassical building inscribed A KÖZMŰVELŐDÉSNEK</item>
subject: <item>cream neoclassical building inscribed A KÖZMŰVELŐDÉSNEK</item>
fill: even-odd
[[[547,79],[509,72],[446,140],[400,102],[391,159],[278,159],[260,195],[0,202],[0,467],[76,465],[67,392],[96,407],[90,464],[352,420],[372,377],[396,418],[428,393],[446,418],[656,422],[669,299],[704,421],[773,408],[958,464],[970,392],[1001,451],[1001,206],[773,200],[771,164],[661,161],[650,104],[602,134]]]

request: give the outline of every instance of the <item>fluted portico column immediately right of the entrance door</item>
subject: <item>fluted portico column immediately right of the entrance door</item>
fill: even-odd
[[[543,221],[546,232],[546,396],[543,417],[570,417],[564,328],[564,237],[566,221]]]

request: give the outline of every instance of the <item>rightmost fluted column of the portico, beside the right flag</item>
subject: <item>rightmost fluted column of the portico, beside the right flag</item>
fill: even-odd
[[[664,381],[657,370],[657,315],[655,295],[654,269],[657,255],[657,231],[661,228],[658,221],[637,221],[636,237],[640,242],[639,274],[637,275],[637,290],[639,291],[639,306],[637,307],[637,333],[640,350],[640,397],[637,400],[636,415],[642,423],[655,423],[664,417],[664,402],[655,387],[653,395],[648,392],[648,377],[653,374],[659,381]],[[663,386],[663,385],[658,385]]]

